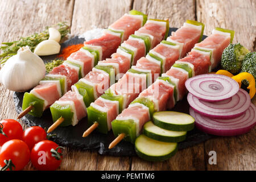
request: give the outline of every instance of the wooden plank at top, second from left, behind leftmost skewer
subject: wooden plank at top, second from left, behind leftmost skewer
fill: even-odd
[[[72,19],[71,34],[81,34],[93,27],[105,28],[128,13],[132,1],[76,0]]]

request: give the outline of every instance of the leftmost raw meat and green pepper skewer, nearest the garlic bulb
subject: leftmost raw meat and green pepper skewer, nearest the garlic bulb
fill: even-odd
[[[18,118],[27,113],[41,117],[43,111],[68,92],[79,78],[92,71],[98,61],[110,57],[123,40],[143,26],[146,19],[143,13],[131,10],[110,25],[101,38],[84,42],[84,47],[53,68],[30,93],[24,94],[22,109],[25,111]]]

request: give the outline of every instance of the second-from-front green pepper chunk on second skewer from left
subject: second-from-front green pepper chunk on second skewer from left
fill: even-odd
[[[94,102],[93,86],[87,85],[82,81],[78,81],[75,86],[83,97],[84,104],[86,107],[89,107],[90,104]]]

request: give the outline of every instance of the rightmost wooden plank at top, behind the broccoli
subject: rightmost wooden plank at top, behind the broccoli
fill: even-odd
[[[232,29],[233,42],[240,42],[251,51],[256,50],[256,2],[236,1],[196,1],[197,19],[205,23],[205,34],[210,35],[213,28]]]

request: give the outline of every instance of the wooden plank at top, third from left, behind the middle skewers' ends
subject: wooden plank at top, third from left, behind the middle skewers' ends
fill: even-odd
[[[169,18],[170,27],[179,28],[185,20],[196,18],[193,0],[134,0],[133,9],[148,14],[148,18]]]

